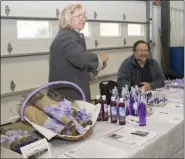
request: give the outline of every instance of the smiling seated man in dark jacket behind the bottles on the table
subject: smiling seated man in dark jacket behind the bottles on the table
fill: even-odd
[[[145,91],[164,86],[165,76],[155,59],[149,58],[150,47],[143,40],[137,41],[133,46],[134,54],[123,61],[118,70],[118,90],[122,87],[138,85],[145,87]]]

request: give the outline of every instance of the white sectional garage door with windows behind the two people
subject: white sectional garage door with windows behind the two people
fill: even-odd
[[[146,40],[146,1],[1,1],[1,107],[6,112],[2,123],[13,115],[10,109],[16,112],[18,92],[48,81],[48,53],[58,31],[57,15],[71,3],[86,8],[82,32],[88,49],[97,54],[104,50],[110,56],[99,75],[102,78],[115,77],[121,62],[132,54],[133,43]],[[92,97],[97,84],[91,84]]]

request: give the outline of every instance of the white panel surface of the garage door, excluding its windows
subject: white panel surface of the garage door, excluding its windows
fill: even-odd
[[[136,40],[146,40],[145,35],[128,36],[129,22],[146,22],[146,2],[145,1],[75,1],[81,3],[87,10],[87,19],[94,19],[94,11],[97,13],[98,22],[91,22],[91,37],[86,37],[88,49],[95,49],[94,41],[98,40],[97,48],[122,47],[121,49],[112,49],[105,51],[110,56],[110,61],[105,70],[99,74],[99,79],[91,83],[92,98],[99,93],[98,84],[103,80],[116,80],[117,70],[121,62],[132,54],[131,46]],[[57,33],[58,21],[56,18],[56,9],[61,10],[67,4],[74,1],[2,1],[1,15],[4,17],[14,17],[14,19],[1,19],[1,124],[9,122],[9,118],[16,114],[16,104],[19,103],[20,92],[28,92],[48,81],[48,54],[37,55],[38,52],[45,53],[49,51],[49,46],[54,35]],[[7,16],[5,7],[10,8]],[[123,14],[126,19],[123,20]],[[52,37],[48,39],[20,40],[17,38],[17,19],[15,17],[32,18],[50,18]],[[102,20],[119,21],[121,26],[120,37],[100,37],[100,22]],[[124,40],[127,40],[124,45]],[[8,43],[12,45],[12,52],[7,51]],[[126,47],[125,47],[126,46]],[[124,48],[125,47],[125,48]],[[100,51],[94,51],[99,53]],[[5,56],[25,55],[32,56],[11,57]],[[24,77],[24,79],[23,79]],[[16,87],[12,91],[10,82],[14,81]],[[14,113],[12,113],[14,112]]]

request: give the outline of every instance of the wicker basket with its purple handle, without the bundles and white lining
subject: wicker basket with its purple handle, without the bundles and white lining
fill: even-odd
[[[36,94],[38,91],[41,91],[43,89],[48,89],[49,86],[58,85],[58,84],[64,84],[64,85],[69,85],[69,86],[74,87],[75,89],[77,89],[81,93],[82,100],[86,101],[86,98],[85,98],[85,95],[84,95],[82,89],[79,86],[77,86],[76,84],[74,84],[72,82],[68,82],[68,81],[49,82],[49,83],[46,83],[46,84],[42,85],[41,87],[33,90],[31,93],[28,94],[28,96],[26,96],[26,98],[24,99],[24,101],[22,102],[21,107],[20,107],[20,118],[21,118],[22,122],[26,121],[25,117],[24,117],[24,108],[25,108],[26,104],[28,103],[28,101],[31,99],[31,97],[34,94]],[[92,106],[94,106],[94,105],[92,105]],[[57,134],[56,137],[59,137],[59,138],[64,139],[64,140],[71,140],[71,141],[83,140],[83,139],[87,138],[88,136],[90,136],[92,134],[94,124],[95,124],[95,122],[91,126],[89,126],[86,133],[83,134],[83,135],[68,136],[68,135],[59,135],[59,134]]]

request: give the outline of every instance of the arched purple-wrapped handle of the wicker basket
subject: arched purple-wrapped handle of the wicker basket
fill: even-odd
[[[67,84],[67,85],[71,85],[71,86],[74,86],[82,95],[82,98],[84,101],[86,101],[86,98],[85,98],[85,95],[82,91],[82,89],[76,85],[75,83],[72,83],[72,82],[68,82],[68,81],[54,81],[54,82],[49,82],[49,83],[46,83],[44,85],[42,85],[41,87],[33,90],[27,97],[26,99],[24,100],[24,102],[22,103],[21,105],[21,111],[20,111],[20,117],[21,117],[21,120],[23,121],[24,120],[24,108],[27,104],[27,102],[30,100],[30,98],[35,94],[37,93],[38,91],[40,91],[41,89],[47,87],[47,86],[50,86],[50,85],[54,85],[54,84]]]

